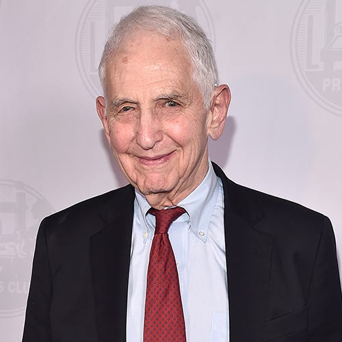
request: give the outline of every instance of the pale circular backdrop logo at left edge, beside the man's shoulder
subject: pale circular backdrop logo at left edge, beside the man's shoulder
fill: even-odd
[[[0,180],[0,317],[25,311],[38,226],[52,212],[28,185]]]

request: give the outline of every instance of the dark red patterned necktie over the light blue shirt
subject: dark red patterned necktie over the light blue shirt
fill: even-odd
[[[155,215],[156,224],[147,271],[144,341],[185,342],[179,278],[168,237],[170,224],[185,213],[185,209],[151,208],[148,212]]]

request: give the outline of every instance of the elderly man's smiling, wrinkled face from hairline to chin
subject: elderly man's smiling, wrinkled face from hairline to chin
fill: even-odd
[[[151,205],[176,205],[207,172],[211,117],[181,42],[134,34],[107,65],[105,96],[98,114],[122,172]]]

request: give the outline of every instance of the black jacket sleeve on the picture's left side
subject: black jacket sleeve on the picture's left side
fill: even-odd
[[[52,283],[45,224],[46,219],[40,224],[36,240],[23,342],[52,342],[50,325]]]

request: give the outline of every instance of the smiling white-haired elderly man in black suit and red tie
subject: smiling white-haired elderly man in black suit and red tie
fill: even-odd
[[[99,74],[98,116],[130,185],[43,220],[23,341],[341,341],[328,218],[209,161],[231,94],[202,29],[137,8]]]

